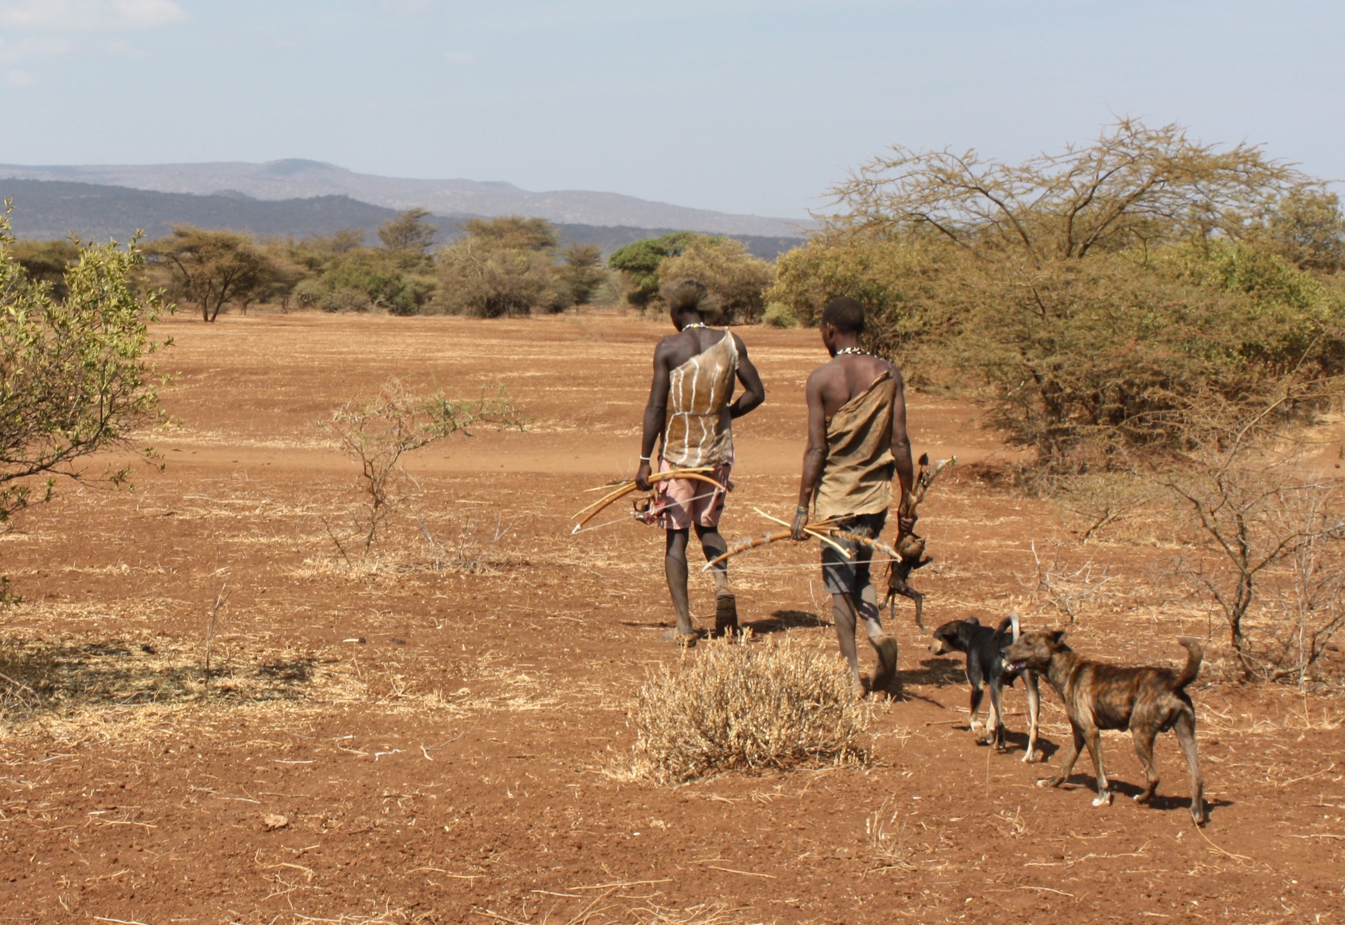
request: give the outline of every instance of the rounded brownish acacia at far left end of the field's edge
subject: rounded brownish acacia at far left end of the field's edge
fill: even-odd
[[[237,231],[178,225],[167,238],[149,242],[145,254],[167,270],[172,296],[198,305],[203,321],[214,321],[230,303],[254,301],[269,280],[265,254]]]

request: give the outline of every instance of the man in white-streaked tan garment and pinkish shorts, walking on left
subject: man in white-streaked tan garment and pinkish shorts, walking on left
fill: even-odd
[[[748,359],[748,348],[730,331],[705,324],[706,292],[698,282],[681,282],[667,293],[668,313],[678,333],[664,337],[654,350],[654,382],[644,409],[644,436],[636,485],[648,491],[654,442],[662,438],[659,472],[710,467],[710,475],[729,485],[733,465],[732,419],[742,417],[763,401],[761,376]],[[734,382],[744,393],[733,398]],[[703,481],[668,479],[658,483],[659,526],[667,531],[663,569],[667,574],[677,629],[672,639],[690,644],[697,639],[687,593],[686,545],[691,527],[701,540],[705,558],[728,550],[720,535],[724,492]],[[726,563],[713,569],[716,586],[714,632],[737,629],[737,602],[729,586]]]

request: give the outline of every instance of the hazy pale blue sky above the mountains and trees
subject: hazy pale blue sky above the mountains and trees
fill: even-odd
[[[0,0],[0,163],[311,157],[802,216],[1111,114],[1345,177],[1340,0]]]

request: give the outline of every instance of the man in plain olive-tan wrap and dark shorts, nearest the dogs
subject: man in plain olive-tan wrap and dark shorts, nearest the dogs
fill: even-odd
[[[901,497],[911,491],[911,441],[907,437],[907,401],[901,371],[861,350],[863,307],[853,298],[834,298],[822,313],[822,343],[831,362],[808,376],[808,449],[803,454],[799,507],[794,538],[807,539],[803,527],[812,519],[833,523],[846,532],[877,538],[892,504],[892,476]],[[898,499],[900,501],[900,499]],[[901,532],[915,527],[902,519]],[[882,631],[878,596],[869,575],[873,550],[854,540],[838,540],[850,558],[822,546],[822,577],[831,592],[841,653],[850,663],[855,691],[859,656],[855,629],[859,621],[878,655],[870,690],[888,690],[897,672],[897,641]]]

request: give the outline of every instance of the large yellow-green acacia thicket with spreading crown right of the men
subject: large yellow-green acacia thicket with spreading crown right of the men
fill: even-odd
[[[1341,371],[1345,300],[1263,243],[1305,183],[1130,120],[1021,164],[897,148],[835,188],[818,259],[784,261],[771,297],[818,301],[818,273],[855,289],[870,347],[987,405],[1050,488],[1221,441],[1286,387],[1278,417],[1317,406],[1299,386]]]

